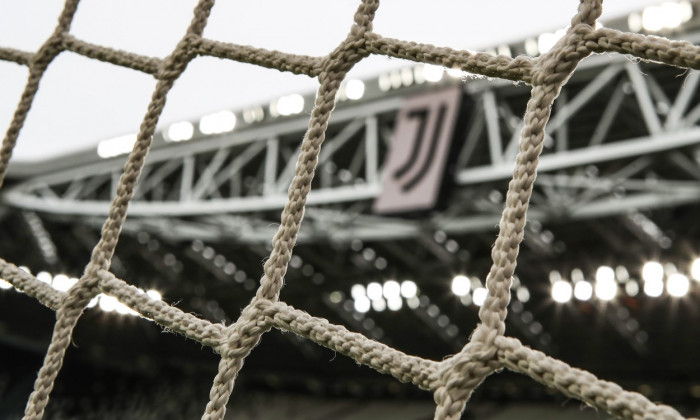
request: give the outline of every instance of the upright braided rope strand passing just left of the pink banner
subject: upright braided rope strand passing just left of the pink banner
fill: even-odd
[[[335,96],[345,74],[361,58],[364,34],[371,30],[374,11],[379,6],[376,0],[365,0],[355,14],[355,25],[348,38],[322,62],[319,87],[309,129],[301,144],[295,176],[289,187],[289,199],[282,211],[282,221],[273,239],[270,258],[265,262],[265,275],[260,281],[255,298],[243,310],[241,317],[228,328],[230,341],[220,350],[221,362],[209,394],[209,404],[202,419],[222,419],[226,403],[233,391],[233,384],[243,361],[266,331],[258,316],[257,302],[277,301],[287,271],[292,249],[304,216],[306,197],[311,190],[321,143],[325,138],[330,114],[335,107]]]

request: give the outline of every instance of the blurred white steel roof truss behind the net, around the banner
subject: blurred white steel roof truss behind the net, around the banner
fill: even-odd
[[[643,70],[650,76],[654,71]],[[694,95],[698,72],[663,80],[664,86],[677,85],[679,93],[673,98],[658,80],[645,77],[640,65],[620,58],[595,57],[581,73],[574,75],[567,86],[572,90],[562,92],[554,109],[529,217],[595,218],[700,201],[695,185],[700,165],[687,152],[700,145],[700,127],[695,125],[700,104]],[[403,98],[360,101],[333,114],[308,200],[309,223],[301,238],[381,240],[416,237],[434,229],[448,233],[493,229],[501,204],[490,203],[487,193],[502,189],[512,175],[523,126],[515,115],[527,92],[486,81],[468,83],[465,91],[476,100],[470,126],[458,134],[464,147],[457,159],[450,211],[418,222],[371,216],[371,206],[354,206],[381,194],[387,136]],[[667,112],[659,111],[660,102]],[[619,128],[626,118],[630,128]],[[228,235],[248,242],[268,241],[274,230],[270,212],[286,202],[306,128],[306,118],[292,118],[155,148],[129,208],[128,223],[182,239]],[[639,165],[639,158],[644,165]],[[286,163],[280,164],[280,159]],[[121,160],[29,177],[2,199],[12,207],[46,214],[104,216]],[[673,167],[675,173],[658,171],[661,164]],[[590,165],[595,165],[598,176],[584,174]],[[661,179],[659,172],[665,173]],[[654,174],[654,182],[645,180],[647,173]],[[614,196],[616,188],[627,194]],[[471,198],[463,201],[467,196]],[[313,217],[315,209],[316,214],[325,213]],[[230,219],[211,217],[221,214],[238,214],[256,228],[240,235],[245,223],[236,226]]]

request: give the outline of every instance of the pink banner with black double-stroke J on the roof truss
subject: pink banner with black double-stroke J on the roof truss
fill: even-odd
[[[379,214],[435,207],[459,116],[462,89],[409,98],[399,112],[383,170]]]

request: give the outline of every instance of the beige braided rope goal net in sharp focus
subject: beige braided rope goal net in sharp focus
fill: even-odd
[[[202,419],[223,419],[245,358],[271,328],[294,332],[399,381],[432,392],[437,404],[436,419],[460,418],[474,389],[487,376],[503,368],[527,375],[568,397],[577,398],[619,418],[684,418],[672,407],[655,404],[639,393],[625,391],[614,383],[600,380],[591,373],[524,346],[517,339],[505,335],[505,319],[511,278],[523,240],[528,203],[542,152],[545,125],[554,100],[577,64],[591,53],[617,52],[642,60],[700,69],[700,47],[656,36],[608,28],[595,29],[596,19],[602,12],[602,0],[581,0],[566,35],[549,52],[539,57],[510,58],[472,53],[382,37],[372,30],[378,0],[362,0],[347,38],[330,54],[311,57],[203,38],[214,0],[200,0],[182,39],[170,55],[159,59],[94,45],[73,37],[70,26],[78,3],[79,0],[66,1],[56,29],[38,51],[30,53],[0,48],[0,59],[29,68],[26,87],[0,150],[0,186],[42,76],[61,52],[71,51],[147,73],[157,80],[157,84],[134,148],[119,179],[101,238],[79,281],[67,292],[60,292],[0,259],[0,277],[56,311],[52,340],[27,402],[24,419],[40,419],[43,416],[73,329],[88,302],[99,293],[116,297],[143,317],[209,346],[220,355],[218,372]],[[336,94],[348,71],[371,54],[459,68],[484,76],[524,82],[532,87],[513,178],[509,183],[499,234],[492,249],[493,265],[486,281],[488,297],[479,310],[480,323],[459,353],[439,362],[407,355],[279,300]],[[228,326],[213,324],[154,301],[109,271],[127,208],[168,92],[187,65],[198,56],[213,56],[304,74],[317,78],[319,82],[295,176],[289,187],[289,199],[282,211],[279,230],[272,240],[273,249],[264,264],[260,287],[240,317]]]

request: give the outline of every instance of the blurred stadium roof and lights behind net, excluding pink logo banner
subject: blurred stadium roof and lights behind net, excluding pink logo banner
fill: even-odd
[[[697,43],[698,14],[697,3],[667,2],[604,24]],[[558,36],[490,49],[537,55]],[[343,85],[282,293],[294,307],[439,359],[477,323],[529,89],[401,64]],[[618,55],[584,60],[548,125],[507,320],[528,346],[686,416],[700,414],[699,79]],[[378,211],[407,101],[455,89],[435,203]],[[271,249],[313,97],[290,93],[163,127],[115,275],[186,312],[235,320]],[[99,238],[131,144],[118,136],[14,163],[0,192],[0,256],[67,290]],[[11,419],[31,392],[54,313],[0,287],[0,419]],[[73,341],[45,418],[201,415],[218,362],[211,350],[108,296],[91,302]],[[433,410],[428,392],[273,330],[247,359],[228,416],[428,419]],[[479,387],[463,418],[550,416],[607,418],[509,372]]]

